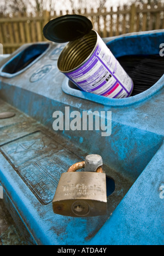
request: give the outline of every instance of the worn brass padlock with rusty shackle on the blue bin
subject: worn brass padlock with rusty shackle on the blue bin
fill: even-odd
[[[94,158],[95,155],[89,155]],[[87,159],[87,157],[86,157]],[[52,206],[54,213],[72,217],[100,216],[107,213],[106,173],[98,165],[89,172],[75,172],[89,164],[85,160],[72,165],[61,174]]]

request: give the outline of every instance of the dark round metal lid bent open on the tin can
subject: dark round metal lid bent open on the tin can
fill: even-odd
[[[64,15],[50,20],[43,28],[44,37],[56,43],[79,39],[92,30],[92,22],[81,15]]]

